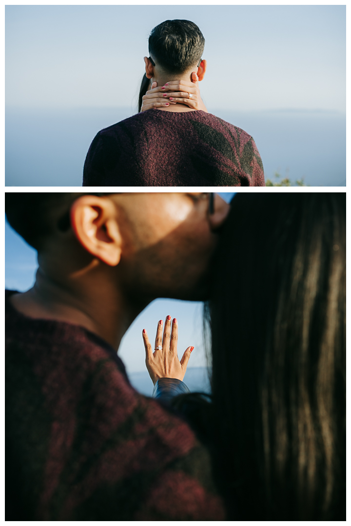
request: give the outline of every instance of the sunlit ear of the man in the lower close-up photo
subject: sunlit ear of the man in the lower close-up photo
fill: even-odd
[[[106,265],[118,265],[122,237],[111,199],[92,195],[78,197],[71,207],[71,225],[85,250]]]

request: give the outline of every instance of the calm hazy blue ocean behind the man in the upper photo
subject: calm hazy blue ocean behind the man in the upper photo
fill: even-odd
[[[254,137],[265,176],[276,170],[310,186],[346,185],[346,117],[337,112],[226,112]],[[81,186],[97,131],[131,116],[121,108],[6,110],[6,186]]]

